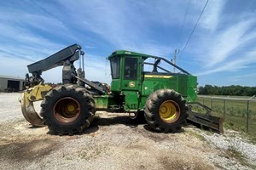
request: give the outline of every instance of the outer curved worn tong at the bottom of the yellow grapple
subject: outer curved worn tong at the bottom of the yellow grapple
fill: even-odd
[[[44,127],[43,119],[38,116],[37,111],[34,109],[32,101],[27,99],[26,92],[21,94],[20,103],[21,111],[27,122],[30,122],[33,127]]]

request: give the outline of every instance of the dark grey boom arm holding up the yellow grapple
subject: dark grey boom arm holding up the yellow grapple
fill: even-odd
[[[80,55],[84,55],[84,52],[81,50],[81,46],[75,43],[67,48],[61,49],[61,51],[55,54],[50,55],[46,59],[41,59],[38,62],[27,65],[28,71],[32,73],[32,77],[26,75],[26,85],[33,87],[38,85],[40,82],[44,82],[44,79],[40,77],[43,71],[48,71],[49,69],[63,65],[62,82],[64,84],[77,83],[77,80],[79,79],[80,82],[84,82],[91,88],[95,88],[101,94],[104,94],[101,87],[84,78],[84,73],[82,74],[81,71],[76,71],[73,62],[78,60]],[[82,83],[79,83],[79,85],[81,84]]]

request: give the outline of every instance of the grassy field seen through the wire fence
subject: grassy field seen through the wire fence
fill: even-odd
[[[205,96],[198,101],[212,109],[212,115],[223,117],[225,127],[256,135],[256,98]]]

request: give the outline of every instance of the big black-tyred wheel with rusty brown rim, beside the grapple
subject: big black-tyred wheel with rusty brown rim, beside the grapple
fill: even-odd
[[[95,101],[85,88],[61,85],[45,95],[41,104],[43,122],[55,134],[81,133],[90,126],[96,108]]]

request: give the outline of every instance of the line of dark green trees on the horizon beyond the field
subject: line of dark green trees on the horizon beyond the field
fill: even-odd
[[[199,87],[198,94],[253,96],[256,94],[256,87],[246,87],[239,85],[218,87],[207,84],[204,87]]]

